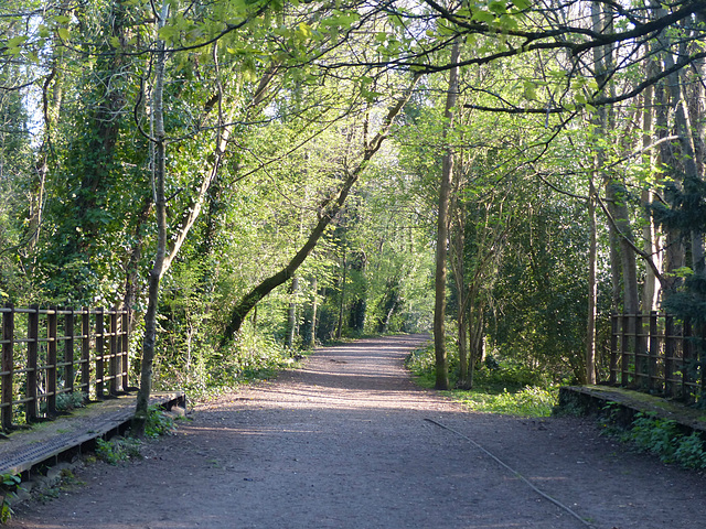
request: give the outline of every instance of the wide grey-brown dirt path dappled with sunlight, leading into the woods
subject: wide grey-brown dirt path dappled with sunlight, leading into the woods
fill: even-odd
[[[417,389],[402,363],[422,339],[322,349],[9,527],[705,527],[706,478],[624,453],[590,420],[470,413]]]

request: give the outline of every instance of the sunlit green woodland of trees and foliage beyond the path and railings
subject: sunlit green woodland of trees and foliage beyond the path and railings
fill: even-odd
[[[130,307],[142,386],[194,395],[431,328],[440,388],[605,378],[611,312],[706,314],[705,18],[6,0],[0,296]]]

